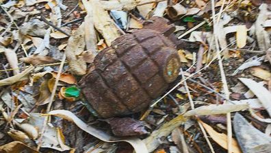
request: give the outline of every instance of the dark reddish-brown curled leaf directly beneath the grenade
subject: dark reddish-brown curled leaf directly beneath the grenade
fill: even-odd
[[[103,121],[110,124],[111,130],[116,136],[135,136],[149,133],[145,130],[144,121],[137,121],[130,117],[113,117],[103,119]]]

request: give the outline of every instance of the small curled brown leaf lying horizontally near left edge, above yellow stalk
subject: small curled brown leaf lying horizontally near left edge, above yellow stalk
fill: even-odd
[[[40,55],[31,55],[26,58],[20,58],[22,62],[26,62],[29,64],[50,64],[58,62],[57,60],[49,57],[49,56],[40,56]]]

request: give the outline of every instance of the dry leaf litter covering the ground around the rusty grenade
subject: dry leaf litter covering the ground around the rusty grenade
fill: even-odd
[[[0,152],[268,152],[268,1],[3,0],[0,6]],[[189,44],[178,51],[185,80],[179,74],[147,110],[99,119],[77,82],[102,49],[144,29],[152,16],[175,23],[174,34]]]

